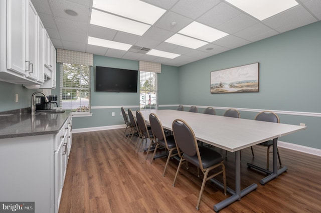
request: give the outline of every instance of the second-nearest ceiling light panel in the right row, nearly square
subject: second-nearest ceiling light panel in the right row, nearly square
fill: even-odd
[[[214,29],[196,21],[193,21],[192,23],[181,29],[179,33],[189,35],[191,37],[195,37],[208,42],[213,42],[217,39],[220,39],[228,35],[228,33],[226,32],[222,32],[220,30]]]

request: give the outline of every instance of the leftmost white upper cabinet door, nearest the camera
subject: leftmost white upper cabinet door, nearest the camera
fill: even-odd
[[[26,74],[26,0],[7,1],[7,68]],[[27,66],[27,68],[28,68]]]

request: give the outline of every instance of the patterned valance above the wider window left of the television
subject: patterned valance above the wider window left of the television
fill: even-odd
[[[87,52],[57,49],[57,62],[92,66],[94,64],[94,56],[92,53]]]

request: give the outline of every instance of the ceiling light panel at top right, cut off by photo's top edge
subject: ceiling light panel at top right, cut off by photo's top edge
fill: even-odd
[[[259,20],[287,10],[298,3],[295,0],[226,0]]]

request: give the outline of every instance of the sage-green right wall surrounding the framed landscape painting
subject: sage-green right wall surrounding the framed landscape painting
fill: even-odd
[[[179,67],[180,103],[250,109],[321,112],[321,21]],[[259,92],[210,93],[210,72],[259,62]],[[217,110],[223,114],[224,110]],[[241,111],[253,119],[257,112]],[[279,114],[307,129],[281,141],[321,149],[320,117]]]

